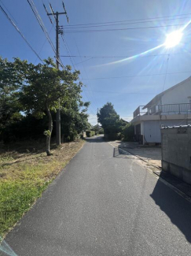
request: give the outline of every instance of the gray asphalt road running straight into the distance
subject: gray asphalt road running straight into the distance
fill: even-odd
[[[134,157],[87,139],[6,243],[19,256],[189,255],[191,204]]]

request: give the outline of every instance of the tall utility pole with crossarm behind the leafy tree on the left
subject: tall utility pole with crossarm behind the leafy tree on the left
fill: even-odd
[[[64,30],[63,30],[63,26],[59,26],[59,15],[64,14],[69,22],[68,19],[68,15],[64,6],[64,2],[62,2],[63,8],[64,8],[64,12],[63,13],[58,13],[58,12],[54,12],[53,11],[53,7],[50,4],[50,10],[51,13],[48,13],[46,6],[44,6],[46,13],[48,15],[48,17],[50,18],[50,16],[53,16],[55,21],[56,21],[56,62],[57,62],[57,69],[59,69],[59,60],[60,60],[60,52],[59,52],[59,35],[63,35],[64,34]],[[50,18],[50,22],[53,24],[51,18]],[[61,109],[60,109],[60,103],[59,103],[59,107],[57,109],[57,116],[56,116],[56,140],[57,140],[57,146],[61,146]]]

